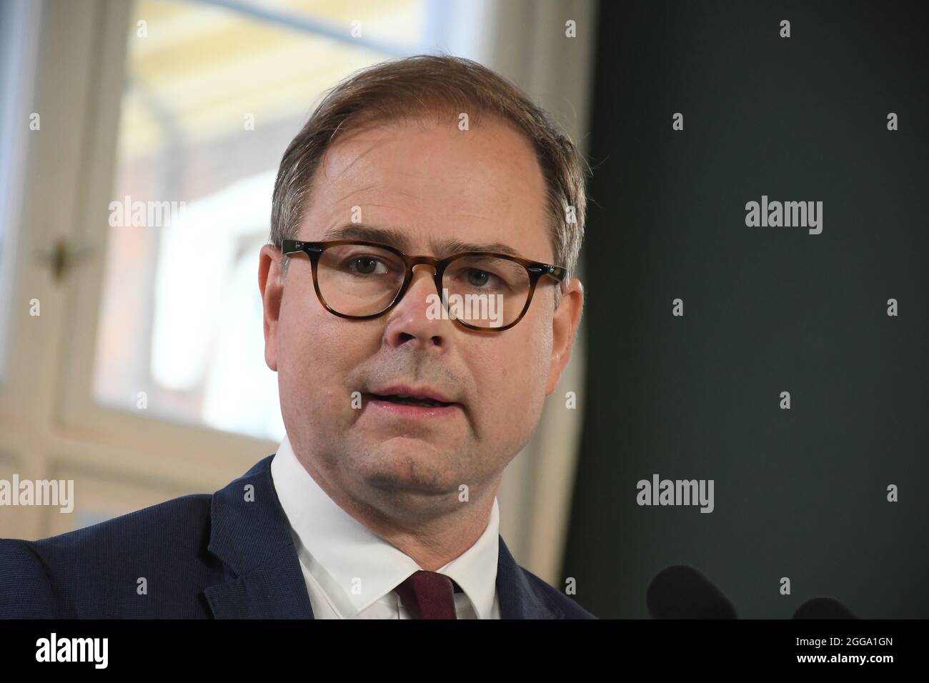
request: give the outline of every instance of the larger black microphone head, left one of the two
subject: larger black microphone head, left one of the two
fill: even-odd
[[[675,564],[648,584],[645,602],[652,619],[737,619],[736,608],[700,571]]]

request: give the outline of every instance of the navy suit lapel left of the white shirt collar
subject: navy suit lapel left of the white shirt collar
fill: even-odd
[[[216,619],[312,619],[290,525],[271,481],[273,455],[213,494],[207,549],[231,577],[203,591]]]

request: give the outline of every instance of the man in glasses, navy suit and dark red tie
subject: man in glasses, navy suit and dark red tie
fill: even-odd
[[[278,453],[212,496],[0,543],[0,615],[592,618],[517,565],[496,500],[569,361],[584,206],[569,139],[475,62],[336,87],[260,255]]]

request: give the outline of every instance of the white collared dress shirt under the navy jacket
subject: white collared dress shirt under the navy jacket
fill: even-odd
[[[414,619],[394,590],[415,560],[369,530],[325,493],[300,464],[285,435],[271,460],[271,479],[291,527],[316,619]],[[500,509],[474,545],[439,567],[461,586],[458,619],[500,619],[497,596]]]

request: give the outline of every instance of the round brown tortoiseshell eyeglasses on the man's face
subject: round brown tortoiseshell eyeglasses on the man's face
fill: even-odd
[[[435,270],[438,296],[428,296],[427,315],[493,332],[508,330],[522,320],[543,275],[561,286],[568,277],[562,266],[491,252],[407,256],[386,244],[356,240],[284,240],[282,251],[287,256],[309,256],[313,287],[322,306],[352,320],[377,318],[397,306],[410,287],[413,266],[419,264]]]

